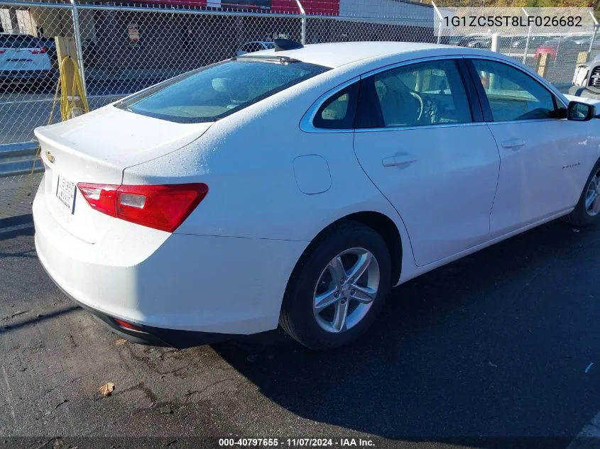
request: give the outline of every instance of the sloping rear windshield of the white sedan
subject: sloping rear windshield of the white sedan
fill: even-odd
[[[215,121],[329,70],[305,62],[240,58],[158,84],[116,107],[177,123]]]

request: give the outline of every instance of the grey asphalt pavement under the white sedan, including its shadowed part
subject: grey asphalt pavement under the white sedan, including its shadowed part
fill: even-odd
[[[313,353],[279,331],[189,350],[126,343],[59,292],[31,235],[0,240],[0,436],[564,448],[600,410],[599,252],[600,228],[549,223],[394,289],[365,338]]]

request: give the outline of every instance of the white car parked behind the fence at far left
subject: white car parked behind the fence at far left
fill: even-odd
[[[0,33],[0,85],[36,84],[43,88],[55,82],[48,48],[26,34]]]

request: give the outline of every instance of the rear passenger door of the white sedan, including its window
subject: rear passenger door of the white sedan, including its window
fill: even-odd
[[[498,150],[459,67],[432,58],[361,79],[354,152],[420,266],[489,238]]]

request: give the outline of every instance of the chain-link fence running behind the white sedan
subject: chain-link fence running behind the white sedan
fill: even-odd
[[[278,37],[307,44],[393,40],[492,46],[491,35],[438,38],[432,5],[410,1],[346,1],[334,11],[331,2],[305,0],[310,11],[292,2],[281,13],[227,11],[220,0],[219,8],[209,7],[216,0],[202,8],[183,7],[178,0],[169,0],[169,6],[166,0],[151,5],[58,1],[0,0],[0,145],[31,140],[37,126],[60,121],[56,36],[76,40],[90,109],[197,67],[270,48]],[[588,59],[600,52],[594,32],[557,36],[531,29],[529,37],[501,35],[497,50],[533,70],[545,55],[545,77],[567,83],[581,52]],[[26,175],[0,177],[0,189],[14,194],[19,189],[11,187],[26,186],[19,201],[28,203],[38,182],[38,175],[33,182]],[[9,204],[16,200],[0,195],[0,216],[11,214]]]

